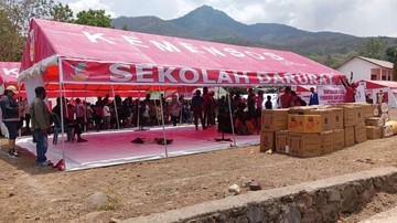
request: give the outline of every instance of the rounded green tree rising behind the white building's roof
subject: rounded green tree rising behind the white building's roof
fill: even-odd
[[[364,45],[358,50],[358,55],[385,60],[386,57],[386,43],[377,38],[371,38]]]

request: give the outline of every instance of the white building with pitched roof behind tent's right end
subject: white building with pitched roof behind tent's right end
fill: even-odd
[[[350,78],[353,72],[353,81],[397,81],[393,79],[393,63],[364,56],[356,56],[344,63],[337,71]]]

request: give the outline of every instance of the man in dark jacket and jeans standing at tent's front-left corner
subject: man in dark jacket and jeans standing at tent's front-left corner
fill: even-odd
[[[36,87],[34,92],[36,97],[30,107],[30,114],[32,118],[32,129],[36,140],[36,163],[41,167],[51,166],[51,161],[45,157],[49,148],[49,134],[51,127],[49,107],[44,103],[46,92],[42,86]]]

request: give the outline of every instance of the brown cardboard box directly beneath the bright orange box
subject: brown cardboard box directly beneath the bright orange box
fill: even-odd
[[[318,157],[320,150],[320,134],[289,132],[289,155],[293,157]]]

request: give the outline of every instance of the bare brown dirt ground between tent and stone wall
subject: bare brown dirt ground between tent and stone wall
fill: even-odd
[[[397,119],[397,109],[390,117]],[[0,222],[78,222],[88,214],[84,202],[95,192],[111,198],[101,210],[128,219],[222,199],[229,185],[242,185],[244,177],[266,190],[397,163],[397,137],[310,159],[245,147],[74,172],[36,167],[34,157],[23,150],[11,159],[7,140],[0,142]],[[362,214],[342,221],[368,217],[396,200],[379,194]]]

